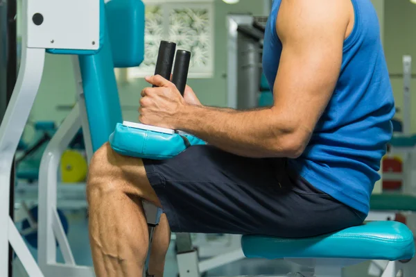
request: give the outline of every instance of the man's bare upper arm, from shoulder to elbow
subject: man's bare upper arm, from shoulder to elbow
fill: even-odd
[[[273,88],[273,108],[295,128],[310,134],[338,81],[347,24],[336,15],[327,16],[327,8],[306,1],[281,3],[277,32],[283,48]],[[311,10],[302,12],[300,8]]]

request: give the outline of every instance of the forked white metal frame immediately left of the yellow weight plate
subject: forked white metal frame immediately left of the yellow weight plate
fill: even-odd
[[[39,173],[39,215],[38,215],[38,262],[45,276],[95,276],[92,267],[78,266],[75,263],[67,235],[57,211],[58,167],[62,153],[83,127],[88,162],[92,158],[92,143],[89,134],[87,110],[83,83],[80,76],[78,57],[73,56],[73,69],[76,76],[78,101],[64,119],[58,131],[46,147],[40,163]],[[64,264],[56,261],[55,239],[58,240]]]

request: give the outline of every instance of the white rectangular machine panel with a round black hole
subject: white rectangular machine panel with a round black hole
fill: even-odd
[[[100,0],[24,1],[28,1],[28,48],[100,47]]]

